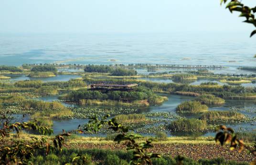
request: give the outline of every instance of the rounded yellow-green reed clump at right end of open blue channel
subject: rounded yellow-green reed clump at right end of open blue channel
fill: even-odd
[[[177,106],[177,113],[203,113],[208,111],[208,106],[198,101],[186,101]]]

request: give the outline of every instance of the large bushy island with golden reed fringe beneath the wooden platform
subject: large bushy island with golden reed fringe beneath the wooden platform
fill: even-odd
[[[81,105],[110,105],[143,107],[167,101],[168,98],[153,93],[147,88],[138,88],[138,91],[90,91],[79,90],[60,96],[68,103]]]

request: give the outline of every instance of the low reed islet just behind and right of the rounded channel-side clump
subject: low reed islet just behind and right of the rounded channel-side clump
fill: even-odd
[[[207,105],[218,105],[225,103],[224,99],[215,97],[212,94],[202,94],[196,98],[196,101]]]

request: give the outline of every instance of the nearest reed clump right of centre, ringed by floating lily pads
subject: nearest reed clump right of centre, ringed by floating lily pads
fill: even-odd
[[[178,119],[167,126],[173,132],[199,132],[207,127],[206,121],[197,119]]]

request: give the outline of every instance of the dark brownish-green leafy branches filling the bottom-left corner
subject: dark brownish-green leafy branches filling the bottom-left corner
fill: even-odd
[[[32,138],[31,141],[4,141],[5,138],[10,136],[10,134],[14,131],[16,131],[16,134],[19,136],[22,130],[33,130],[45,135],[53,134],[52,129],[38,126],[32,122],[17,122],[10,124],[8,121],[6,121],[3,125],[1,125],[0,128],[0,134],[2,137],[0,140],[4,144],[0,145],[0,164],[28,165],[30,164],[30,158],[33,156],[34,152],[38,150],[43,150],[45,155],[49,155],[50,151],[55,150],[55,148],[59,148],[61,151],[62,145],[64,144],[64,136],[70,135],[66,133],[56,135],[50,140],[52,141],[53,145],[51,145],[45,137],[42,137],[41,139]],[[55,156],[54,159],[57,160],[58,157]]]

